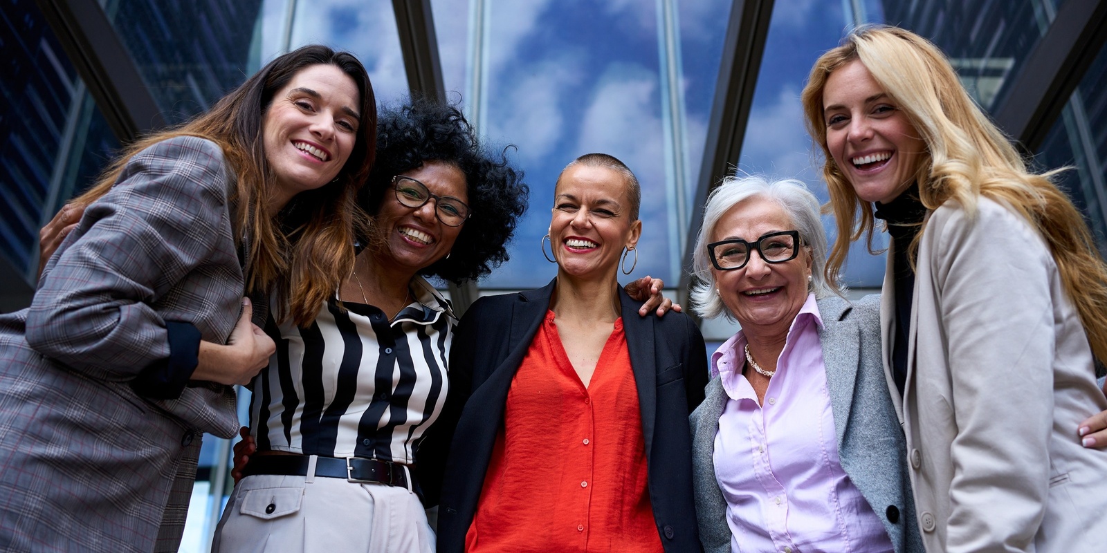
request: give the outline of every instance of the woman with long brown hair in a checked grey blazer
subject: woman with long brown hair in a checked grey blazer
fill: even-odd
[[[32,305],[0,317],[0,549],[151,551],[182,528],[175,478],[273,352],[251,315],[272,294],[307,324],[353,264],[375,114],[354,56],[304,46],[77,198]]]

